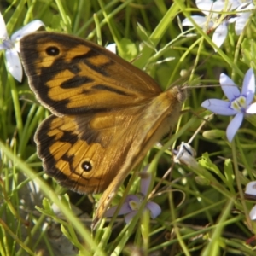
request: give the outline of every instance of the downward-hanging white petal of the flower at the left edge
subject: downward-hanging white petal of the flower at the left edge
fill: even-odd
[[[5,56],[9,73],[11,73],[16,80],[21,82],[23,71],[18,53],[15,49],[7,49],[5,51]]]

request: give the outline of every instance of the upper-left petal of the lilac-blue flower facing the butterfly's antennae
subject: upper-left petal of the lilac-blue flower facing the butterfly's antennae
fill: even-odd
[[[219,84],[221,85],[221,89],[224,91],[225,96],[227,96],[230,102],[241,96],[241,92],[236,84],[226,74],[220,74]]]

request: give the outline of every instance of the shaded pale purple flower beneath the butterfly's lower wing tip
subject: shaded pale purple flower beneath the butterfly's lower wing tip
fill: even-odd
[[[137,214],[137,212],[142,204],[142,201],[145,198],[145,195],[148,194],[148,189],[149,189],[149,185],[151,183],[151,178],[152,178],[151,173],[142,172],[140,195],[127,195],[127,197],[125,198],[125,202],[122,205],[122,207],[120,208],[118,215],[125,215],[125,223],[126,224],[129,224],[131,222],[131,219]],[[110,207],[108,209],[108,211],[105,212],[104,216],[112,217],[114,212],[116,212],[117,207],[118,206]],[[150,217],[153,219],[156,218],[161,213],[160,206],[153,201],[147,202],[144,210],[147,210],[147,209],[150,212]]]

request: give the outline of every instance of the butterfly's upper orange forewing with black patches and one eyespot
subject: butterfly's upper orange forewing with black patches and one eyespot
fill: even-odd
[[[83,39],[35,32],[21,39],[20,55],[32,90],[56,115],[127,108],[160,93],[146,73]]]

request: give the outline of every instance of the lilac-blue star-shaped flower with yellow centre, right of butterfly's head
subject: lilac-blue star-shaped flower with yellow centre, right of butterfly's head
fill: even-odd
[[[255,76],[250,68],[243,80],[241,92],[236,84],[224,73],[221,73],[219,83],[229,102],[209,99],[201,103],[201,107],[221,115],[235,115],[227,128],[227,138],[231,142],[236,131],[241,126],[242,119],[246,113],[256,113],[256,103],[253,103],[255,92]]]

